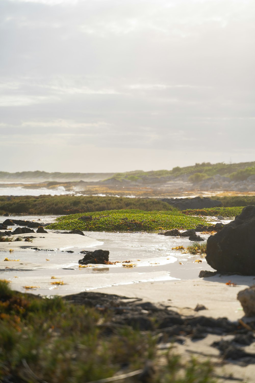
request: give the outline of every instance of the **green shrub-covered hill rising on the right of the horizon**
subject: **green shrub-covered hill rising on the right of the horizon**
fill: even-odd
[[[255,175],[255,161],[239,162],[238,164],[225,164],[219,162],[211,164],[210,162],[202,162],[186,167],[174,167],[172,170],[151,170],[144,172],[143,170],[135,170],[133,172],[115,173],[110,180],[140,182],[145,180],[167,181],[175,178],[189,178],[190,182],[199,182],[207,177],[221,175],[231,178],[231,180],[246,180],[250,175]]]

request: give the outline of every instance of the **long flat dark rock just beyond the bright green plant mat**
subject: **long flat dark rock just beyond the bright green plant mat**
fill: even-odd
[[[186,209],[204,209],[204,208],[215,208],[216,206],[222,206],[220,201],[211,200],[206,197],[195,197],[195,198],[163,198],[162,201],[169,203],[180,210]]]

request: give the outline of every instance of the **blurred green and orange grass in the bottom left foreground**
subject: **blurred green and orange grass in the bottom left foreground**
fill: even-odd
[[[112,381],[152,363],[151,383],[216,382],[210,362],[184,362],[171,348],[163,354],[155,333],[114,324],[112,311],[21,294],[5,280],[0,296],[1,381]]]

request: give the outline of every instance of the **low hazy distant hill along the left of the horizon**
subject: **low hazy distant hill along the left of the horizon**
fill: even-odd
[[[61,172],[41,172],[36,170],[35,172],[16,172],[16,173],[8,173],[8,172],[0,172],[0,182],[8,182],[8,181],[101,181],[106,179],[107,177],[112,177],[114,173],[61,173]]]

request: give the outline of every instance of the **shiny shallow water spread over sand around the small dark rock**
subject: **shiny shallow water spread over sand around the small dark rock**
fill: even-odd
[[[29,219],[42,223],[53,222],[57,216],[11,216],[13,219]],[[0,222],[6,217],[0,216]],[[215,219],[215,218],[214,218]],[[213,221],[213,218],[211,218]],[[227,223],[227,221],[226,221]],[[16,226],[13,226],[13,230]],[[52,230],[54,232],[54,230]],[[188,246],[191,242],[187,237],[159,236],[157,233],[146,232],[84,232],[100,244],[90,248],[71,249],[67,253],[63,244],[62,249],[55,251],[24,250],[11,253],[12,259],[19,262],[6,262],[0,270],[0,278],[11,280],[13,288],[24,291],[24,285],[36,285],[40,281],[40,288],[36,293],[42,295],[65,295],[79,291],[93,290],[106,286],[116,286],[130,283],[163,281],[175,279],[197,278],[200,270],[211,270],[204,257],[199,255],[182,254],[180,250],[172,250],[176,246]],[[26,234],[30,236],[32,234]],[[45,236],[47,241],[47,234]],[[62,234],[63,236],[65,234]],[[77,234],[78,235],[78,234]],[[24,235],[25,236],[25,235]],[[201,235],[205,239],[209,234]],[[11,246],[11,242],[10,242]],[[118,261],[115,265],[93,265],[79,268],[78,260],[83,258],[81,250],[109,250],[109,260]],[[70,249],[68,249],[70,250]],[[9,256],[8,252],[0,253],[0,260]],[[196,263],[195,260],[201,260]],[[131,261],[133,267],[123,267],[125,261]],[[127,263],[128,264],[128,263]],[[3,265],[3,263],[2,263]],[[4,263],[5,265],[5,263]],[[21,270],[23,268],[23,270]],[[50,277],[55,276],[64,280],[67,285],[51,286]]]

